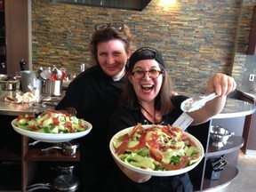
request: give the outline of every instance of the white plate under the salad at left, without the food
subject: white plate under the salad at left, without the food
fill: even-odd
[[[92,124],[89,122],[84,121],[84,124],[88,126],[88,129],[84,132],[72,132],[72,133],[62,133],[62,134],[54,134],[54,133],[44,133],[44,132],[31,132],[27,130],[20,129],[15,125],[16,119],[12,120],[12,128],[24,135],[26,137],[32,138],[33,140],[40,140],[43,142],[66,142],[68,140],[75,140],[77,138],[84,137],[84,135],[88,134],[92,130]]]

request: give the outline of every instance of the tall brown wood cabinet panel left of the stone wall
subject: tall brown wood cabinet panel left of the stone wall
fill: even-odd
[[[4,16],[6,42],[5,68],[8,75],[14,76],[17,71],[20,71],[20,60],[25,60],[28,65],[32,66],[31,1],[4,1]]]

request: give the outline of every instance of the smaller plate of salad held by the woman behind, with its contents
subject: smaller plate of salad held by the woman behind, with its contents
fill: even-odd
[[[18,116],[12,128],[21,135],[44,142],[66,142],[88,134],[92,124],[65,111],[45,110],[40,116]]]

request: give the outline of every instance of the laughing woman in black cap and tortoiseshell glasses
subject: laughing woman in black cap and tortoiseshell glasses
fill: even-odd
[[[142,47],[133,52],[128,63],[127,78],[120,98],[120,108],[110,119],[109,138],[138,123],[172,125],[182,114],[180,104],[188,98],[182,95],[171,96],[169,77],[160,52],[150,47]],[[213,75],[209,79],[206,92],[215,91],[219,97],[206,103],[203,108],[188,113],[194,119],[192,125],[203,124],[220,113],[226,96],[235,89],[236,82],[232,77],[219,73]],[[118,162],[116,164],[118,166],[109,177],[105,191],[193,191],[188,173],[154,177],[133,172]]]

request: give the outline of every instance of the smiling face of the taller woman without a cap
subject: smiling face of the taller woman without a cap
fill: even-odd
[[[129,55],[125,52],[124,42],[118,39],[100,42],[97,49],[98,60],[103,71],[108,76],[121,76],[129,58]]]

